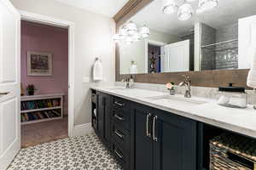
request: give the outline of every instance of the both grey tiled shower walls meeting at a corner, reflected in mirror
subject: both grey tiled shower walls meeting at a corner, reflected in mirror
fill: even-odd
[[[212,28],[206,24],[201,26],[201,45],[238,39],[238,23]],[[238,41],[221,43],[202,48],[201,69],[221,70],[238,68]]]

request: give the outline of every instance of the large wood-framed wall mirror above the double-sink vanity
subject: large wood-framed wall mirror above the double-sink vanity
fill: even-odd
[[[174,2],[175,8],[164,10],[166,2]],[[118,42],[119,74],[249,68],[250,42],[245,39],[249,28],[244,27],[243,19],[252,16],[256,23],[256,0],[215,2],[218,6],[204,11],[198,0],[185,1],[189,7],[184,9],[178,9],[184,0],[154,0],[134,14],[119,31],[131,24],[131,28],[137,27],[137,34],[148,27],[149,35]],[[183,10],[190,10],[192,17],[190,13],[181,15]]]

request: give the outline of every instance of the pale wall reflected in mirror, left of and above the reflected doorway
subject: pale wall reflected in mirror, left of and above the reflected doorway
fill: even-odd
[[[179,37],[172,34],[166,34],[160,31],[154,31],[150,29],[150,35],[148,40],[154,40],[157,42],[172,43],[180,40]],[[131,60],[137,62],[138,73],[146,73],[145,71],[145,42],[134,42],[131,45],[125,43],[119,44],[120,48],[120,74],[129,74],[129,68],[131,67]]]

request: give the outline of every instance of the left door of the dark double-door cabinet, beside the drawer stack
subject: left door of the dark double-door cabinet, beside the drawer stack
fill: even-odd
[[[152,133],[152,116],[147,116],[150,113],[150,109],[143,105],[135,105],[133,108],[134,116],[134,141],[135,141],[135,169],[136,170],[153,170],[153,141],[147,135],[147,125],[148,133]],[[151,112],[152,113],[152,112]]]

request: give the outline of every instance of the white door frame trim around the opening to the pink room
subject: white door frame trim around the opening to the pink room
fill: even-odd
[[[19,10],[20,20],[42,23],[49,26],[68,28],[68,136],[73,137],[74,129],[74,28],[71,21],[60,20],[47,15],[34,14]]]

